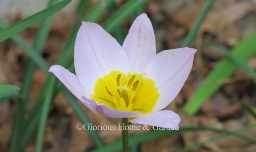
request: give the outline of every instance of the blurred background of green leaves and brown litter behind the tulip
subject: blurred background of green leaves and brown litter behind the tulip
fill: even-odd
[[[0,151],[121,150],[117,130],[75,129],[121,120],[86,109],[47,70],[56,63],[74,72],[82,20],[101,24],[122,44],[143,12],[158,52],[186,46],[198,52],[167,106],[181,115],[180,130],[131,131],[131,151],[256,151],[255,1],[13,0],[0,7]]]

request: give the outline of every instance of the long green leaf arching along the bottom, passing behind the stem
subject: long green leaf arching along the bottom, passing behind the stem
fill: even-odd
[[[243,135],[239,132],[233,132],[226,129],[217,129],[217,128],[210,128],[206,126],[201,127],[181,127],[179,130],[153,130],[147,133],[141,133],[136,135],[131,135],[129,137],[129,145],[133,146],[138,143],[150,141],[152,139],[160,138],[160,137],[166,137],[167,135],[173,135],[173,134],[179,134],[183,132],[194,132],[194,131],[201,131],[201,130],[209,130],[211,132],[226,134],[226,135],[233,135],[235,137],[245,139],[246,141],[256,143],[256,139],[253,137],[248,137],[247,135]],[[122,149],[122,140],[115,141],[113,143],[110,143],[109,145],[92,150],[91,152],[110,152],[110,151],[118,151]]]

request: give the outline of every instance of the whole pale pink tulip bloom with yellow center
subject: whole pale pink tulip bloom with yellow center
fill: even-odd
[[[60,65],[49,72],[96,113],[178,129],[178,114],[162,109],[184,85],[196,51],[186,47],[156,54],[153,27],[143,13],[134,20],[123,46],[98,24],[82,22],[74,48],[76,75]]]

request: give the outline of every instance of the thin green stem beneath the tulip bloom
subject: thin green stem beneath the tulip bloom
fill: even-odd
[[[129,136],[128,136],[128,129],[126,126],[128,125],[128,118],[122,118],[122,141],[123,141],[123,152],[129,152]]]

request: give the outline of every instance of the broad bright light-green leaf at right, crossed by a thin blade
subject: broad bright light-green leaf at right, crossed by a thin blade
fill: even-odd
[[[241,43],[238,44],[231,52],[234,56],[239,56],[242,60],[248,60],[256,51],[256,30],[247,36]],[[213,95],[222,84],[219,84],[219,80],[225,80],[238,68],[237,64],[234,64],[229,57],[221,60],[206,79],[197,88],[194,94],[190,97],[186,103],[184,109],[187,114],[195,114],[202,104]]]

